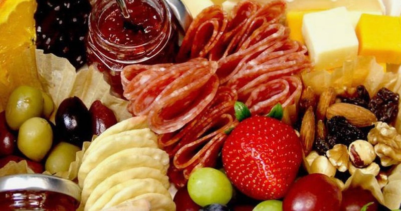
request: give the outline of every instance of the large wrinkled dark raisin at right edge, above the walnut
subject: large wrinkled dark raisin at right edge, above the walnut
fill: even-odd
[[[369,110],[378,121],[391,123],[398,115],[399,94],[381,88],[369,102]]]

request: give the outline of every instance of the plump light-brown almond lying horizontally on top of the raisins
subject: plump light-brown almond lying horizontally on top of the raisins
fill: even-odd
[[[349,123],[356,127],[366,127],[377,122],[376,116],[369,110],[360,107],[359,105],[338,102],[332,104],[326,113],[327,119],[335,116],[343,116]]]

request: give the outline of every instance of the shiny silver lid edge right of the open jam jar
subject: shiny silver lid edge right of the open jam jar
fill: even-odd
[[[181,28],[186,32],[192,23],[192,16],[180,0],[164,0],[170,7]],[[192,0],[196,1],[196,0]]]

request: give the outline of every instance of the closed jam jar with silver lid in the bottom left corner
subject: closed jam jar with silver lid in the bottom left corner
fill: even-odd
[[[0,210],[76,210],[80,187],[67,179],[44,174],[0,177]]]

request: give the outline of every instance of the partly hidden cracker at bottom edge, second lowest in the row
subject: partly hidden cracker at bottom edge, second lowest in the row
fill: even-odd
[[[150,210],[152,211],[174,211],[175,203],[171,196],[160,193],[145,193],[130,200],[146,199],[150,202]]]

